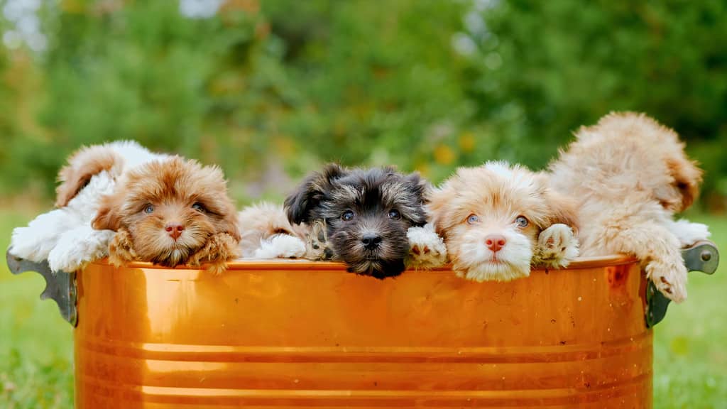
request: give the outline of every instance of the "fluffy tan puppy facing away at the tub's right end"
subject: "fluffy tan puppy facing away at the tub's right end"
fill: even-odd
[[[673,220],[702,181],[675,132],[643,114],[609,114],[578,130],[550,172],[553,187],[577,199],[583,255],[635,255],[667,298],[686,299],[680,248],[710,233]]]

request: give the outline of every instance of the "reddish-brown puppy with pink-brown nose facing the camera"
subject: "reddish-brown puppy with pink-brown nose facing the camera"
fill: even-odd
[[[115,266],[209,263],[219,274],[238,255],[236,212],[222,171],[178,156],[124,175],[101,200],[92,226],[116,231],[108,247]]]

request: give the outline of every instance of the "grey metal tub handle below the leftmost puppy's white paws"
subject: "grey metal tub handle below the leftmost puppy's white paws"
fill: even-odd
[[[36,271],[43,276],[46,282],[45,290],[41,293],[41,300],[51,298],[58,304],[60,315],[63,316],[74,327],[78,324],[78,314],[76,313],[76,273],[67,273],[58,271],[53,273],[48,266],[48,261],[36,263],[16,257],[10,253],[10,249],[5,253],[7,266],[12,274],[20,274],[23,271]]]

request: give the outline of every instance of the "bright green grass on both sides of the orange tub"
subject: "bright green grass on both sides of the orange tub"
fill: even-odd
[[[695,217],[712,229],[727,257],[727,218]],[[0,247],[28,221],[0,210]],[[0,265],[0,408],[71,408],[73,332],[52,301],[39,301],[43,279],[12,276]],[[689,299],[671,305],[655,328],[654,408],[727,407],[727,260],[714,276],[692,273]]]

